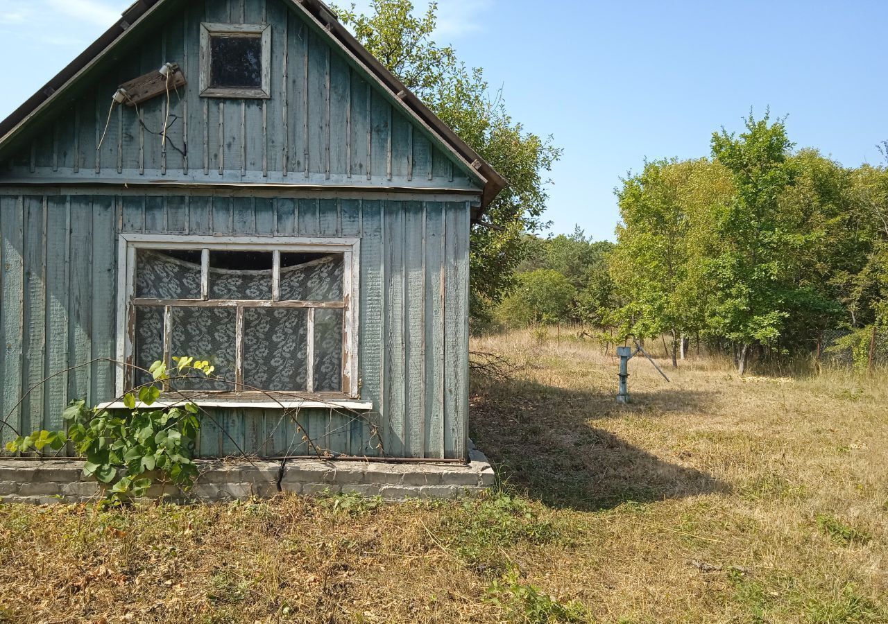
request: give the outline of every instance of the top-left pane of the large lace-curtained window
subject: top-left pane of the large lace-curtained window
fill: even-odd
[[[201,250],[138,249],[136,296],[200,299]]]

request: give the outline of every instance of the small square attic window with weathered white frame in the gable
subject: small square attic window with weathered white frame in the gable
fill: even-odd
[[[270,26],[201,24],[201,95],[269,98]]]

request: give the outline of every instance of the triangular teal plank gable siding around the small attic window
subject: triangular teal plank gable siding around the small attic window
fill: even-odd
[[[393,96],[289,0],[179,4],[163,27],[103,59],[72,98],[17,140],[3,179],[480,188],[465,162],[393,106]],[[200,96],[202,22],[271,25],[270,99]],[[116,107],[110,117],[108,109],[121,83],[168,61],[188,84],[170,94],[162,145],[165,97]]]

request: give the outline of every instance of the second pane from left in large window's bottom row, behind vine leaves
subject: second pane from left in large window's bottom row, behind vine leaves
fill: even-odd
[[[195,373],[194,379],[174,382],[177,390],[234,391],[236,319],[235,308],[172,309],[170,356],[206,359],[216,367],[214,376],[230,382],[212,381],[202,373]]]

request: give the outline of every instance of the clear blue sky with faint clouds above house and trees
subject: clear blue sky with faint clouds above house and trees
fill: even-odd
[[[0,116],[130,0],[0,0]],[[362,0],[359,6],[366,6]],[[645,158],[709,154],[722,125],[789,115],[790,137],[845,165],[888,139],[888,3],[440,0],[439,43],[503,87],[514,118],[553,135],[553,233],[613,238],[614,186]],[[27,59],[14,63],[10,59]]]

